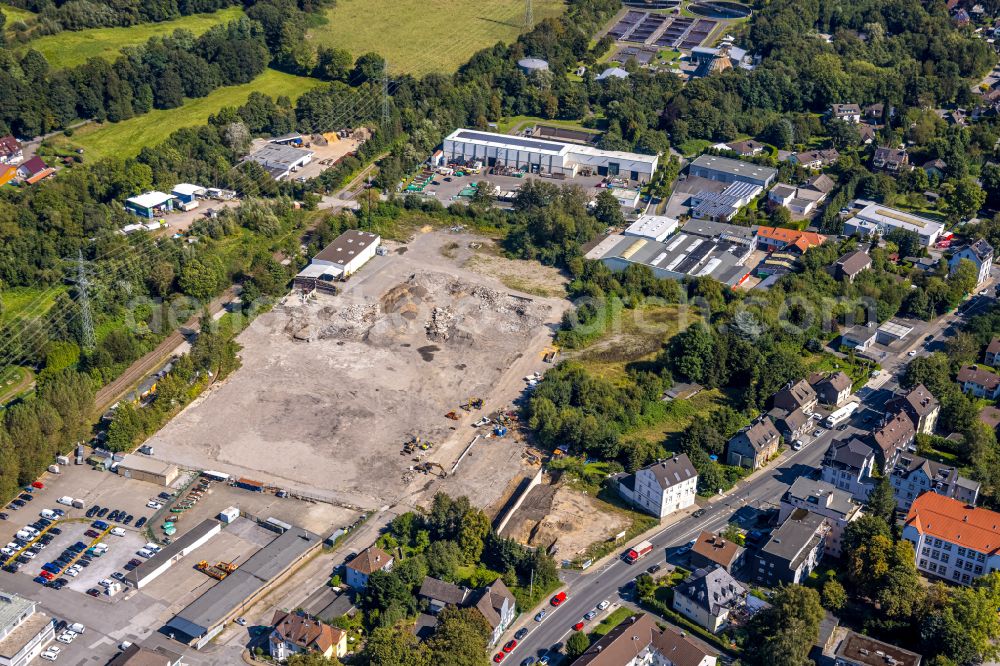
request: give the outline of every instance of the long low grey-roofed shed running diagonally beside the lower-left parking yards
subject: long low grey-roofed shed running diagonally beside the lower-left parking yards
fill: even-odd
[[[323,539],[299,527],[285,530],[167,622],[165,631],[200,650],[239,610],[265,594]]]

